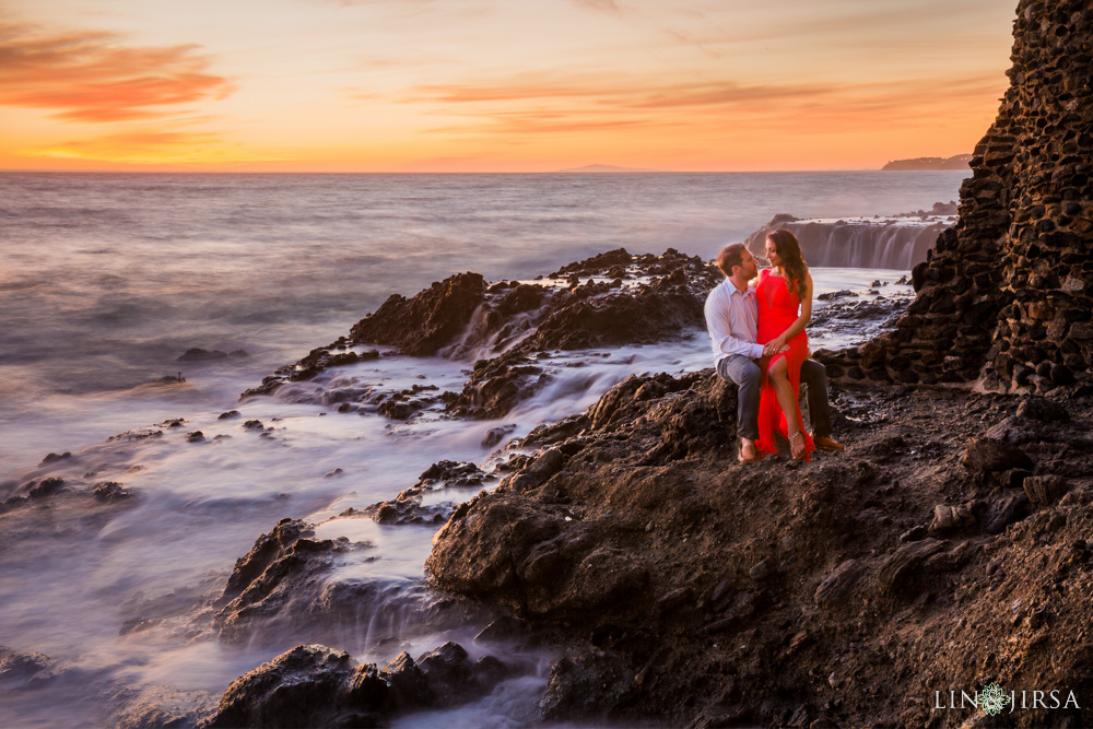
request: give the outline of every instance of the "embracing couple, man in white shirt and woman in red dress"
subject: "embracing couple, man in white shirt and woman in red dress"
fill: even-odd
[[[843,450],[831,437],[827,371],[808,358],[812,275],[789,231],[766,236],[766,259],[771,268],[760,272],[744,244],[721,249],[717,268],[726,278],[706,297],[706,328],[717,374],[739,387],[740,462],[777,454],[776,432],[789,440],[794,460],[808,461],[816,448]],[[811,436],[798,405],[801,380],[809,388]]]

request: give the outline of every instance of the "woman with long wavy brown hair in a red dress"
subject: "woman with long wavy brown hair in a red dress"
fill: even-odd
[[[809,339],[804,327],[812,316],[812,275],[801,256],[801,246],[789,231],[774,231],[766,236],[766,259],[771,269],[759,274],[755,297],[759,301],[757,341],[763,355],[771,357],[763,378],[759,404],[760,454],[776,454],[774,433],[789,439],[794,460],[809,460],[815,450],[804,432],[798,392],[801,364],[808,357]],[[775,354],[786,344],[789,351]]]

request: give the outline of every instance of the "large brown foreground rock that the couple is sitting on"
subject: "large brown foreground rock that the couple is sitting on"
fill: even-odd
[[[567,646],[552,719],[917,727],[937,724],[933,683],[984,671],[1093,690],[1069,637],[1093,600],[1093,402],[1032,420],[1010,396],[832,398],[846,451],[740,465],[734,390],[632,377],[516,444],[530,457],[434,540],[431,581]],[[1027,426],[1018,451],[986,435],[1008,421]],[[1000,624],[1016,601],[1019,627]]]

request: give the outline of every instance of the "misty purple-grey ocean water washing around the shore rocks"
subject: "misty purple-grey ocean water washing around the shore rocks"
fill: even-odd
[[[328,519],[393,497],[442,459],[486,465],[493,449],[483,437],[498,425],[337,413],[302,387],[240,404],[244,389],[346,334],[390,294],[410,296],[459,271],[530,279],[619,247],[713,258],[778,213],[929,210],[956,199],[963,177],[0,174],[0,501],[46,475],[73,493],[117,481],[137,494],[121,508],[58,502],[0,515],[0,645],[48,656],[55,673],[0,694],[0,714],[13,726],[110,726],[149,696],[203,705],[239,674],[312,640],[380,665],[446,639],[473,654],[481,625],[438,630],[395,609],[244,646],[216,639],[209,596],[282,517],[373,544],[331,580],[383,584],[400,604],[425,599],[434,527]],[[814,277],[821,292],[866,291],[906,273],[841,268]],[[815,345],[867,333],[825,332]],[[234,354],[179,361],[191,348]],[[584,366],[566,367],[573,363]],[[315,389],[427,380],[459,390],[471,364],[385,357],[325,373]],[[510,436],[579,412],[631,373],[709,366],[709,349],[700,333],[559,353],[554,365],[551,388],[501,423]],[[157,381],[177,374],[185,383]],[[272,430],[259,436],[243,420],[220,420],[233,409]],[[173,427],[173,419],[184,422]],[[163,435],[136,437],[154,430]],[[186,437],[196,431],[200,443]],[[121,630],[139,618],[151,627]],[[398,726],[521,726],[549,658],[524,656],[522,678],[470,707]]]

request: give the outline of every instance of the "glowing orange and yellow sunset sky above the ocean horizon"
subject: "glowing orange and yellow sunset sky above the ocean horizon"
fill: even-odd
[[[1016,0],[5,0],[0,168],[879,168],[969,153]]]

